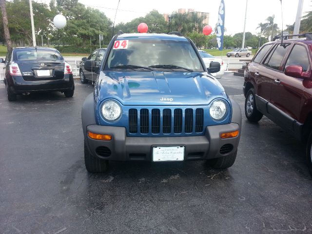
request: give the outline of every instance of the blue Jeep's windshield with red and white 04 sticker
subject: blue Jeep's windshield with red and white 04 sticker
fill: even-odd
[[[187,40],[136,38],[117,41],[108,55],[105,70],[204,71]]]

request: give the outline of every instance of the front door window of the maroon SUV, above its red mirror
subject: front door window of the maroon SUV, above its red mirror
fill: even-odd
[[[292,52],[287,59],[285,67],[288,65],[300,65],[304,72],[309,68],[309,57],[306,48],[302,45],[295,44],[292,48]]]

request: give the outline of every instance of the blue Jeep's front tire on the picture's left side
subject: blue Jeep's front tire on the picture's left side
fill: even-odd
[[[108,160],[92,156],[84,142],[84,164],[88,172],[102,173],[108,170]]]

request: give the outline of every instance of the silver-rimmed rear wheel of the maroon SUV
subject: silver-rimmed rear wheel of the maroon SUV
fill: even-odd
[[[263,114],[257,110],[254,97],[254,88],[251,88],[245,99],[245,116],[250,122],[258,122],[263,117]]]

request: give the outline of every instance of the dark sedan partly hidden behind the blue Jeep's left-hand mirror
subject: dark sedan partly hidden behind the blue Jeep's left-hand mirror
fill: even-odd
[[[93,51],[92,54],[88,58],[86,57],[82,58],[82,62],[79,68],[81,83],[85,84],[88,82],[88,80],[91,80],[92,82],[94,82],[97,79],[97,76],[98,76],[97,71],[94,69],[92,69],[92,71],[85,70],[84,64],[86,61],[90,60],[91,64],[93,64],[95,68],[99,67],[104,58],[105,51],[106,51],[106,48],[100,48],[100,49]]]

